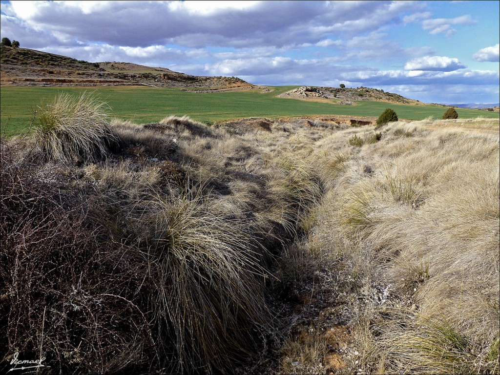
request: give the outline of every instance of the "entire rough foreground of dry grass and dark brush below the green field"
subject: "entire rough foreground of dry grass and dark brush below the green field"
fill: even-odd
[[[498,373],[497,135],[43,108],[1,141],[2,359]]]

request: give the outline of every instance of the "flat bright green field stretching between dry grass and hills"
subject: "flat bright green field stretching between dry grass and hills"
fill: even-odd
[[[358,101],[356,105],[279,98],[277,94],[297,86],[273,87],[274,91],[231,91],[196,93],[177,88],[142,86],[119,87],[23,87],[4,86],[0,90],[1,126],[8,135],[19,133],[29,126],[32,110],[41,102],[50,101],[58,92],[78,95],[92,92],[107,102],[113,117],[137,123],[159,121],[167,115],[188,115],[211,123],[241,117],[284,117],[313,114],[345,114],[378,116],[385,108],[396,111],[401,119],[419,120],[428,116],[441,118],[444,107],[434,105],[405,105],[377,101]],[[498,112],[457,108],[459,118],[498,118]]]

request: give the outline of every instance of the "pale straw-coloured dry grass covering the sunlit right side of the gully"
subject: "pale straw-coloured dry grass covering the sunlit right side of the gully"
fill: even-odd
[[[499,371],[498,134],[441,122],[391,123],[347,150],[344,130],[316,150],[331,176],[303,246],[352,279],[336,300],[357,310],[351,371]]]

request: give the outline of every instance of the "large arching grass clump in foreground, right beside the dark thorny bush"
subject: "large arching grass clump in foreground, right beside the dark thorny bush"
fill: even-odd
[[[269,319],[266,272],[244,222],[190,194],[151,197],[134,227],[154,285],[154,325],[175,348],[178,370],[211,372],[258,346],[254,329]]]

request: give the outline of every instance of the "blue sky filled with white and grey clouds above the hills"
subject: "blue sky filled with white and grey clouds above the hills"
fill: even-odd
[[[500,101],[500,1],[1,1],[0,36],[90,62]]]

